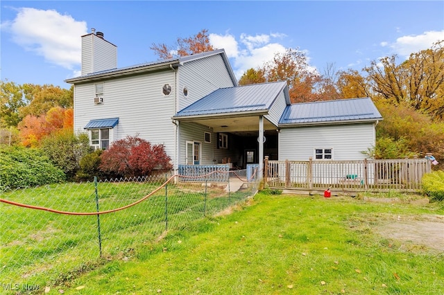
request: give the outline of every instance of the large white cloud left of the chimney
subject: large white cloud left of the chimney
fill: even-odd
[[[76,21],[70,15],[56,10],[19,8],[17,17],[3,22],[1,29],[12,34],[12,41],[45,60],[66,69],[81,62],[79,36],[87,34],[85,21]]]

